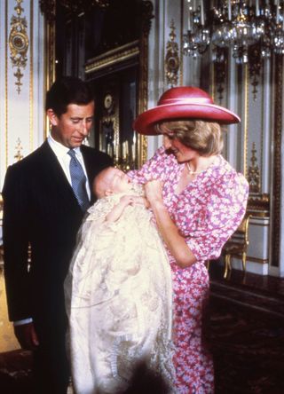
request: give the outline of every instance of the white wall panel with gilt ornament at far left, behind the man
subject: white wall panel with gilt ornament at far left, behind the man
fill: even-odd
[[[16,7],[19,7],[17,10]],[[18,11],[18,12],[17,12]],[[28,39],[27,61],[14,67],[9,36],[15,19],[27,26],[21,33]],[[17,146],[26,156],[43,142],[43,16],[36,0],[0,2],[0,185],[8,165],[17,161]],[[23,60],[23,58],[20,58]],[[22,75],[17,78],[15,74]],[[20,83],[19,88],[17,83]]]

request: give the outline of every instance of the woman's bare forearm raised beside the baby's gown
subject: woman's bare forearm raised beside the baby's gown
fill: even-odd
[[[188,248],[185,238],[179,234],[177,225],[171,220],[168,210],[162,200],[162,183],[158,180],[150,181],[145,187],[146,198],[153,209],[154,217],[162,235],[162,239],[181,268],[196,262],[196,257]]]

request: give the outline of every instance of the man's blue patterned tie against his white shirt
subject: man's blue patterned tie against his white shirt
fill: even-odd
[[[86,191],[86,177],[83,172],[82,165],[76,158],[75,151],[73,149],[70,149],[68,151],[68,154],[70,156],[69,169],[72,188],[81,209],[83,210],[83,212],[85,212],[85,210],[90,207],[90,201],[88,198],[88,193]]]

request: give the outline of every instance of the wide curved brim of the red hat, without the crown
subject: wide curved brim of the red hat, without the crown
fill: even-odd
[[[223,106],[215,104],[166,104],[154,106],[139,114],[133,122],[133,129],[139,134],[155,136],[159,134],[155,124],[173,119],[194,119],[207,122],[217,122],[220,124],[239,123],[241,119],[238,115]]]

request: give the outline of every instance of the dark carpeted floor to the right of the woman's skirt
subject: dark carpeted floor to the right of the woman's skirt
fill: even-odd
[[[217,394],[284,393],[284,316],[211,296]]]

